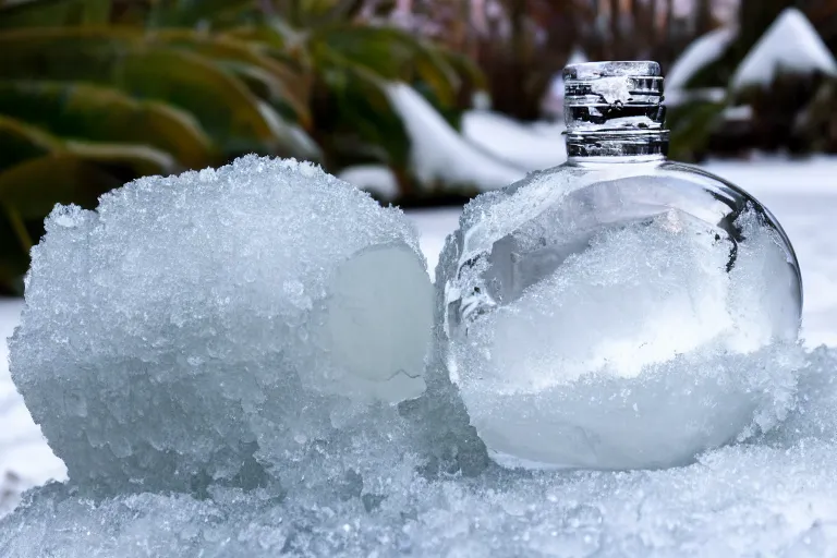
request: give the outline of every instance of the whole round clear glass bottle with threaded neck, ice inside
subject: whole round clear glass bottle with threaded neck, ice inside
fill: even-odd
[[[568,161],[469,204],[437,270],[472,424],[498,463],[548,469],[684,464],[768,429],[802,306],[787,235],[667,160],[657,63],[563,75]]]

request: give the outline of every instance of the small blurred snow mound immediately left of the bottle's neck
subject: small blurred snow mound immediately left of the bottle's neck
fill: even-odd
[[[551,137],[508,117],[472,110],[462,117],[462,135],[498,160],[526,171],[557,167],[567,160],[563,125],[551,126]]]

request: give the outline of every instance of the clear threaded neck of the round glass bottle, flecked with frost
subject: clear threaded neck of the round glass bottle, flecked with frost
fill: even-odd
[[[563,70],[567,153],[664,158],[664,81],[656,62],[590,62]]]

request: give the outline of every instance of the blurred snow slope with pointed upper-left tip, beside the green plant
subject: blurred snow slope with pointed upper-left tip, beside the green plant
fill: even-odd
[[[488,191],[525,174],[469,144],[409,85],[391,84],[388,93],[410,136],[413,173],[426,187],[474,186]]]

